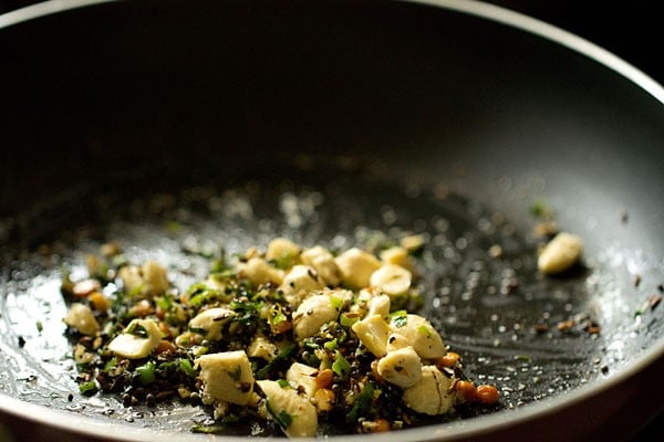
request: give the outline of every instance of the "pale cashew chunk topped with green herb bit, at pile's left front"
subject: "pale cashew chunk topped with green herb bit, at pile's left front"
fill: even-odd
[[[132,319],[124,333],[108,343],[108,349],[127,359],[146,358],[157,348],[162,336],[162,330],[154,320]]]

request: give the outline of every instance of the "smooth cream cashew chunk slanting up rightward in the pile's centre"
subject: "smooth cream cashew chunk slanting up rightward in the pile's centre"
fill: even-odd
[[[293,329],[298,339],[315,335],[323,324],[339,317],[344,301],[334,292],[315,294],[302,302],[293,314]]]

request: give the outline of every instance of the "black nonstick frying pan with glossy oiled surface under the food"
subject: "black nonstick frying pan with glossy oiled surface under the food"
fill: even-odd
[[[475,2],[35,15],[0,31],[0,415],[15,438],[199,436],[204,410],[76,393],[58,278],[107,240],[185,284],[187,241],[424,233],[439,263],[424,313],[501,401],[386,439],[627,438],[662,409],[664,91],[639,71]],[[536,201],[584,240],[563,277],[536,270]]]

